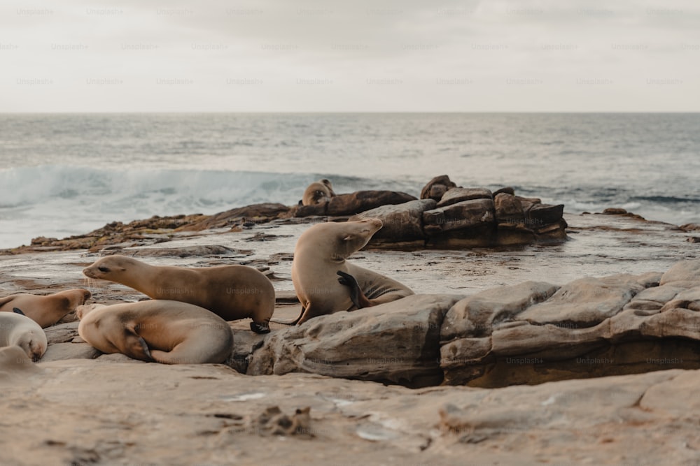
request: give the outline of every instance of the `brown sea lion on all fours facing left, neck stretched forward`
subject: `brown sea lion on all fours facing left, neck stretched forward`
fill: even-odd
[[[83,274],[130,286],[153,299],[204,307],[227,321],[251,317],[251,330],[269,332],[274,286],[262,272],[246,265],[169,267],[114,255],[97,259]]]

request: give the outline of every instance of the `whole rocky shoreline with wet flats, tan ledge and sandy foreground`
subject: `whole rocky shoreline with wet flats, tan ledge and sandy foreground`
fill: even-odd
[[[325,465],[346,451],[367,464],[697,464],[698,228],[563,217],[554,242],[370,244],[351,260],[416,296],[269,335],[232,322],[228,365],[102,355],[66,316],[41,362],[0,355],[3,451],[18,465]],[[5,252],[0,286],[87,286],[109,304],[143,296],[80,275],[102,254],[242,263],[272,279],[275,315],[295,316],[295,238],[325,219],[273,204],[109,224]]]

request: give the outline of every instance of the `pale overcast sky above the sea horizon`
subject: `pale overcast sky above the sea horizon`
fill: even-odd
[[[700,3],[3,1],[0,112],[700,110]]]

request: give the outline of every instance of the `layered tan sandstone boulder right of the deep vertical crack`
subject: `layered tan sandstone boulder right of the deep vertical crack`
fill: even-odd
[[[663,276],[680,279],[661,286],[662,275],[649,272],[585,277],[553,294],[554,287],[530,283],[469,296],[442,323],[444,384],[498,387],[700,367],[700,276],[686,279],[699,265],[675,265]]]

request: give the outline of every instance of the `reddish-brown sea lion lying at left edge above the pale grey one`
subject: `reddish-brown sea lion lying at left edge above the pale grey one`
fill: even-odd
[[[90,291],[79,288],[45,296],[30,294],[6,296],[0,298],[0,312],[13,312],[15,308],[19,309],[41,328],[46,328],[61,320],[69,312],[76,310],[76,307],[85,304],[90,296],[92,296]]]

